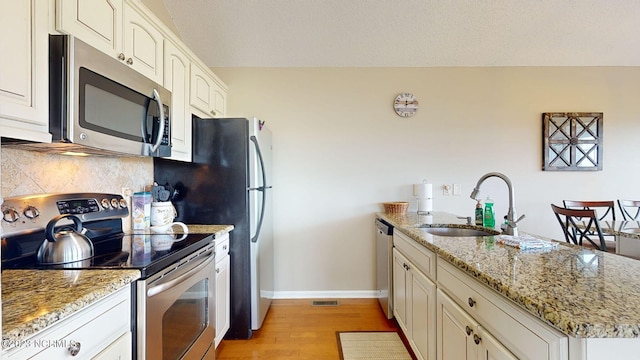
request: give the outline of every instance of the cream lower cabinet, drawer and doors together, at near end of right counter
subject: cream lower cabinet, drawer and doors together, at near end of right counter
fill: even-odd
[[[437,273],[438,360],[567,358],[565,334],[442,259]]]

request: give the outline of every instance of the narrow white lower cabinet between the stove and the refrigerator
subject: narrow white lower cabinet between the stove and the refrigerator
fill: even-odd
[[[216,347],[229,330],[231,323],[229,260],[229,234],[226,234],[216,239]]]

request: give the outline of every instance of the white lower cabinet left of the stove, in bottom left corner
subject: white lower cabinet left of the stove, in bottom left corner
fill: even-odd
[[[131,288],[123,287],[24,342],[2,358],[131,359]]]

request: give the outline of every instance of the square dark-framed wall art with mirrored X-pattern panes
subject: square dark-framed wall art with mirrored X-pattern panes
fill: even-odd
[[[603,113],[543,113],[544,171],[602,170]]]

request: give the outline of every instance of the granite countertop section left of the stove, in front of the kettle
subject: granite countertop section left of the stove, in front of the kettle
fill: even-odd
[[[3,344],[27,339],[139,277],[138,270],[5,270]]]

